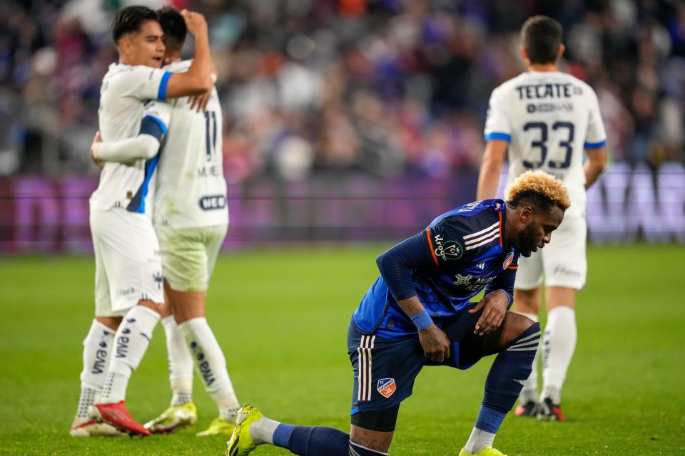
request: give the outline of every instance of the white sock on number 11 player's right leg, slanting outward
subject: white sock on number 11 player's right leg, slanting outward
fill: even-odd
[[[226,371],[226,359],[207,320],[204,317],[191,318],[178,325],[178,329],[191,349],[205,390],[217,405],[219,416],[226,421],[235,420],[240,404]]]

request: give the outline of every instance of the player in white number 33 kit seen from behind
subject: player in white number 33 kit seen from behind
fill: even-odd
[[[534,362],[516,414],[564,420],[561,390],[577,340],[575,294],[587,274],[585,191],[604,170],[607,134],[594,90],[557,71],[564,53],[562,26],[533,16],[522,27],[521,40],[527,71],[490,97],[477,199],[495,197],[507,153],[509,182],[527,170],[542,170],[568,189],[571,207],[564,222],[544,251],[519,261],[514,284],[514,311],[537,321],[543,277],[547,304],[542,394],[538,398]]]

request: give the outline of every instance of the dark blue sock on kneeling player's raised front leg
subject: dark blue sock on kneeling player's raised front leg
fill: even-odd
[[[504,417],[514,407],[523,382],[530,376],[539,342],[540,325],[534,323],[494,359],[485,380],[476,429],[497,433]]]

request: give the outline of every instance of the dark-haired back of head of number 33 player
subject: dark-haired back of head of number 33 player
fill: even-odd
[[[562,25],[547,16],[532,16],[521,28],[521,42],[531,63],[554,63],[563,36]]]

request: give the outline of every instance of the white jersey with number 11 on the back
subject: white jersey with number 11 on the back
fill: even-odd
[[[188,71],[191,61],[172,63]],[[162,141],[154,222],[174,228],[228,223],[223,178],[221,106],[213,89],[204,112],[191,109],[188,97],[161,103],[171,110],[171,127]]]

